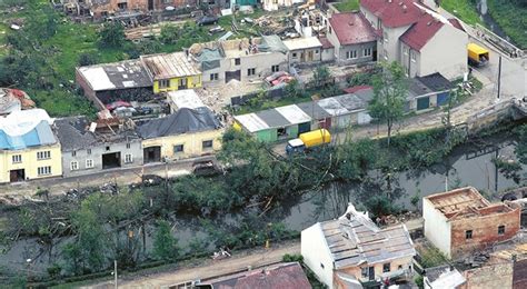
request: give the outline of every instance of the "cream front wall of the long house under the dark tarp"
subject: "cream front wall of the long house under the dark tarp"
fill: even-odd
[[[201,131],[196,133],[183,133],[163,138],[146,139],[142,141],[142,148],[161,147],[161,159],[163,157],[171,160],[186,159],[191,157],[211,153],[221,148],[221,136],[223,129]],[[212,149],[203,149],[202,142],[212,140]],[[173,146],[183,144],[182,152],[173,152]]]

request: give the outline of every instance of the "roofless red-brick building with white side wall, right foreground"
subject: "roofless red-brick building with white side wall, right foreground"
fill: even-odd
[[[490,203],[467,187],[424,198],[425,237],[449,258],[460,258],[516,236],[521,210]]]

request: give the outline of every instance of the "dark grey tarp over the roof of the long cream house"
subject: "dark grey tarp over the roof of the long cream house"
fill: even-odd
[[[182,108],[169,117],[153,119],[138,128],[143,139],[219,129],[221,124],[208,108]]]

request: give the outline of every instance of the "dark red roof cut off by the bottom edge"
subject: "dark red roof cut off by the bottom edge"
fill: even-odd
[[[279,263],[265,270],[252,270],[203,282],[218,289],[289,289],[307,288],[309,283],[298,262]]]

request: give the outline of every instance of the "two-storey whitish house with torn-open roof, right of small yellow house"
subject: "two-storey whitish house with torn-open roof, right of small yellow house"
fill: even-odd
[[[288,70],[288,48],[278,36],[195,43],[188,52],[200,66],[203,84],[250,81]]]

